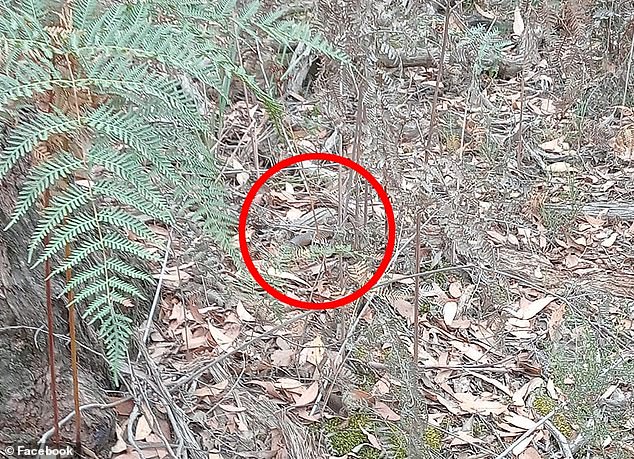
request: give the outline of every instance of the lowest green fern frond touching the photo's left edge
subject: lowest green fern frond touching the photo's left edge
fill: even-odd
[[[61,114],[39,113],[13,129],[7,139],[7,146],[0,154],[0,178],[24,156],[31,153],[39,142],[53,134],[69,133],[79,127],[77,120]]]

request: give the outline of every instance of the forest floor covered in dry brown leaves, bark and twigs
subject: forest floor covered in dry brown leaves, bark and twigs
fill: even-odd
[[[208,458],[634,457],[634,113],[592,91],[565,105],[544,62],[504,78],[355,62],[291,88],[277,127],[236,98],[219,163],[237,215],[284,158],[354,159],[394,209],[386,272],[302,310],[256,284],[237,236],[234,261],[197,261],[203,239],[176,234],[145,361],[163,395],[118,407],[117,457],[180,457],[165,438]],[[339,165],[304,166],[256,197],[250,254],[287,296],[331,301],[376,272],[386,210]],[[284,227],[320,209],[356,220],[323,241]]]

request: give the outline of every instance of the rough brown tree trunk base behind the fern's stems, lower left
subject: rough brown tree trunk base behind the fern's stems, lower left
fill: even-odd
[[[15,171],[0,182],[0,446],[33,445],[53,427],[43,267],[27,263],[34,213],[3,231],[21,181],[22,171]],[[61,279],[53,280],[60,419],[73,411],[68,309],[65,300],[56,299],[62,286]],[[80,404],[107,403],[107,369],[92,351],[100,348],[94,333],[80,327],[77,334]],[[102,457],[98,451],[109,447],[113,425],[112,410],[83,411],[82,444]],[[61,429],[64,441],[74,439],[73,429],[74,419]]]

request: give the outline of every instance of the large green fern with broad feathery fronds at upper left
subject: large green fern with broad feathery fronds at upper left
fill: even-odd
[[[54,262],[70,247],[51,276],[73,270],[64,293],[78,292],[72,303],[96,324],[114,374],[132,330],[121,305],[143,300],[138,281],[153,280],[134,262],[156,260],[147,222],[193,212],[229,249],[214,134],[232,80],[280,113],[236,64],[237,47],[269,36],[341,58],[305,26],[258,10],[236,14],[232,0],[0,0],[0,179],[26,169],[8,226],[44,197],[29,260]]]

